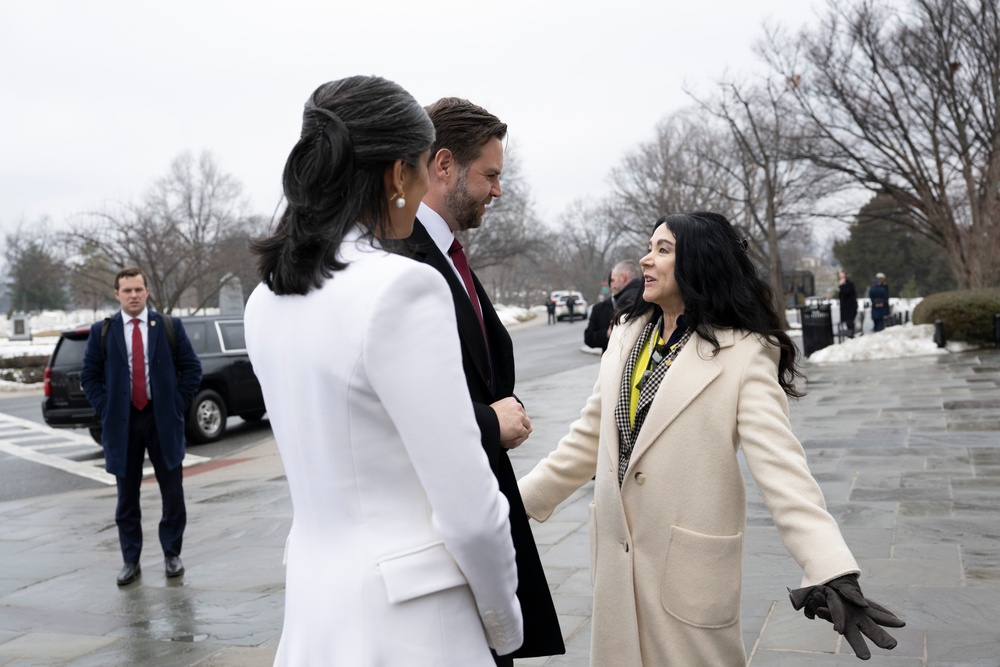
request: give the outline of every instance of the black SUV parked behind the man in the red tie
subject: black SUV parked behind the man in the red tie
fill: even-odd
[[[247,421],[264,416],[264,397],[247,356],[243,320],[227,316],[184,317],[184,330],[201,359],[201,387],[187,414],[188,438],[214,442],[229,415]],[[101,423],[80,386],[90,327],[64,331],[45,368],[42,416],[55,428],[86,428],[101,441]]]

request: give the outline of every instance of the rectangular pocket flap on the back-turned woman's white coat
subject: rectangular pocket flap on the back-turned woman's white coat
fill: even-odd
[[[389,604],[406,602],[468,583],[443,542],[389,554],[376,564],[382,573]]]

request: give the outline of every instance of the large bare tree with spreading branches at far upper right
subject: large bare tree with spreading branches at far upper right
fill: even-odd
[[[831,3],[764,52],[811,123],[811,160],[907,208],[961,287],[1000,284],[995,0]]]

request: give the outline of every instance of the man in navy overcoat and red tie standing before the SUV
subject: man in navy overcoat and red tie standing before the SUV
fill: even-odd
[[[184,413],[201,383],[201,361],[181,321],[171,320],[173,336],[168,336],[169,324],[146,307],[148,297],[140,269],[119,271],[115,298],[122,309],[111,318],[106,336],[103,322],[91,327],[80,373],[87,400],[101,419],[105,469],[118,480],[115,522],[125,562],[119,586],[132,583],[141,572],[139,488],[147,453],[163,499],[159,533],[166,575],[184,574]]]

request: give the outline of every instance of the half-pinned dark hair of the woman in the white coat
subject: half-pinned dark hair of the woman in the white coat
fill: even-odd
[[[251,242],[261,279],[275,294],[306,294],[347,266],[337,251],[355,223],[369,241],[386,236],[385,169],[397,159],[417,166],[433,142],[427,113],[392,81],[354,76],[317,88],[285,162],[285,210],[273,234]]]

